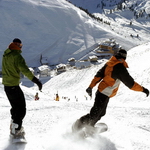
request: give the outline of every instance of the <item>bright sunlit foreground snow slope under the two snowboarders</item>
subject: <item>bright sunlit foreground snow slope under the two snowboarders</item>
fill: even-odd
[[[136,82],[150,89],[150,43],[128,51],[129,73]],[[11,144],[9,138],[10,105],[0,84],[1,150],[149,150],[150,98],[121,84],[110,99],[107,113],[100,122],[109,130],[93,138],[79,139],[71,134],[73,122],[88,113],[94,102],[85,93],[93,76],[106,62],[82,70],[68,70],[43,84],[40,100],[34,101],[37,86],[25,87],[27,115],[24,119],[27,144]],[[29,82],[23,79],[22,82]],[[60,101],[54,101],[58,92]],[[86,97],[87,96],[87,100]],[[66,97],[66,99],[64,99]]]

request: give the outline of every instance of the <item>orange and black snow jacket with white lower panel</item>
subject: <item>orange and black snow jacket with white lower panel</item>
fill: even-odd
[[[89,87],[93,88],[99,83],[98,90],[108,97],[113,97],[116,95],[121,81],[131,90],[142,92],[143,87],[134,81],[126,68],[128,65],[124,59],[112,56],[97,72]]]

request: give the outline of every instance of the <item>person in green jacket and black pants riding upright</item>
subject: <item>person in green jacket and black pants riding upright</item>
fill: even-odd
[[[11,105],[11,125],[10,133],[14,136],[24,134],[22,127],[23,118],[26,115],[26,102],[23,91],[21,90],[20,73],[36,83],[39,90],[42,83],[32,74],[21,55],[22,42],[15,38],[5,50],[2,58],[2,84]]]

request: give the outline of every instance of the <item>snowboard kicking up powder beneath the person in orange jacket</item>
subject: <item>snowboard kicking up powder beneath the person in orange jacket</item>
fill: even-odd
[[[87,138],[87,137],[94,137],[96,135],[99,135],[103,132],[106,132],[108,130],[108,126],[105,123],[97,123],[94,127],[86,126],[79,130],[78,132],[74,133],[78,137],[81,138]]]

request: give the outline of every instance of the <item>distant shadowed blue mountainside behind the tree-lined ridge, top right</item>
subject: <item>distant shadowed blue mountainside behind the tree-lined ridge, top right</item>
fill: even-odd
[[[129,9],[136,13],[144,10],[145,15],[150,14],[148,0],[69,0],[69,2],[77,7],[87,9],[90,13],[104,13],[106,9],[112,10],[112,12],[115,12],[115,9]]]

